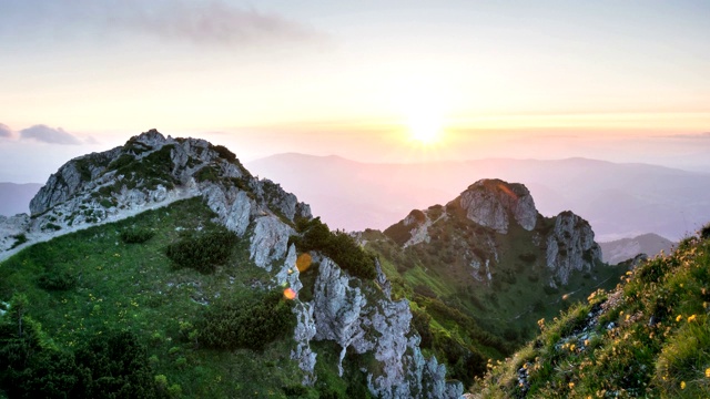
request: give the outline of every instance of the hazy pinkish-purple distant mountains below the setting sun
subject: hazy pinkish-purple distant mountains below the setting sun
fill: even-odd
[[[656,233],[671,239],[710,221],[710,174],[587,158],[361,163],[278,154],[246,163],[310,203],[331,227],[386,228],[410,209],[444,204],[481,178],[525,184],[542,215],[574,209],[608,242]]]

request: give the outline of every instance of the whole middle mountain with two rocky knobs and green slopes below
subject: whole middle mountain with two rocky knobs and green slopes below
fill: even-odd
[[[586,221],[571,212],[546,218],[524,185],[500,180],[358,236],[379,255],[393,293],[420,310],[423,346],[467,383],[484,371],[474,359],[504,358],[540,317],[613,287],[628,270],[601,263]]]

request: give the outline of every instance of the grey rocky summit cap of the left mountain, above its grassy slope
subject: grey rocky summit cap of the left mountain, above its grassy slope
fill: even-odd
[[[30,202],[29,223],[19,232],[6,228],[11,234],[0,231],[0,242],[21,233],[33,243],[194,196],[202,196],[216,218],[240,236],[255,226],[252,258],[262,267],[286,254],[291,231],[273,219],[312,217],[308,205],[252,176],[225,147],[151,130],[123,146],[61,166]]]

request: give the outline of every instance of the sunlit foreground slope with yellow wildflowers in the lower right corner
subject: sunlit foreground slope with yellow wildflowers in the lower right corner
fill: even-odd
[[[480,398],[710,397],[710,234],[552,320],[473,389]]]

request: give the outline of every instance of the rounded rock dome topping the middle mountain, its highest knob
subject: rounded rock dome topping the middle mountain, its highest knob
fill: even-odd
[[[459,202],[469,219],[500,234],[508,233],[511,219],[527,231],[535,228],[537,222],[535,202],[523,184],[481,180],[455,201]]]

